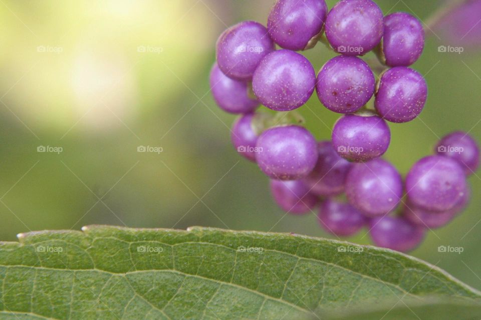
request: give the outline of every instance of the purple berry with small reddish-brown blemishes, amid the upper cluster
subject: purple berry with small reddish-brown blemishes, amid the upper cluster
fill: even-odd
[[[336,56],[317,76],[316,92],[329,110],[352,113],[374,94],[376,79],[369,65],[357,56]]]

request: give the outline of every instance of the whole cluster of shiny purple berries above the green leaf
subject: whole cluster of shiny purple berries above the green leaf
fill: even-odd
[[[322,37],[340,55],[316,76],[310,61],[295,51]],[[284,210],[303,214],[319,204],[327,231],[350,236],[367,225],[376,245],[408,251],[426,228],[444,225],[466,205],[466,176],[479,161],[475,141],[463,132],[442,138],[436,154],[415,163],[404,181],[380,158],[390,143],[386,121],[410,121],[426,102],[424,77],[408,67],[423,47],[417,18],[404,12],[383,16],[372,0],[340,0],[329,12],[324,0],[277,0],[267,28],[244,21],[220,35],[210,87],[223,110],[241,114],[232,143],[271,178]],[[358,57],[371,50],[387,66],[377,82]],[[317,142],[296,124],[271,122],[262,130],[254,125],[266,114],[256,111],[260,104],[290,111],[314,90],[325,107],[343,113],[332,140]],[[373,96],[370,109],[366,103]],[[340,199],[344,193],[347,201]],[[398,207],[400,214],[389,214]]]

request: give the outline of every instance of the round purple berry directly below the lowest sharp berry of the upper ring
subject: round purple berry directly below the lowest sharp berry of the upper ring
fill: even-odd
[[[367,216],[383,215],[401,201],[402,177],[384,159],[354,163],[346,178],[346,196],[354,207]]]

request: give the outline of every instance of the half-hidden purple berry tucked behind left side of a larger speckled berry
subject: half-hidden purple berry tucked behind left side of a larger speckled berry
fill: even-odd
[[[240,155],[248,160],[256,161],[255,147],[258,135],[252,126],[253,117],[254,113],[240,115],[232,125],[230,140]]]

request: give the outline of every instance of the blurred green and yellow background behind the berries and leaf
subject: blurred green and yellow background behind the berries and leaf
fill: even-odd
[[[230,144],[235,116],[209,93],[217,36],[240,20],[266,23],[272,3],[2,1],[0,239],[93,223],[329,236],[314,214],[289,216],[275,205],[268,179]],[[414,12],[423,20],[439,5],[377,3],[385,14]],[[440,43],[450,44],[430,34],[413,66],[429,86],[421,116],[390,123],[385,157],[403,174],[450,131],[481,141],[481,53],[438,52]],[[334,56],[322,44],[305,54],[317,70]],[[315,94],[299,110],[317,138],[330,137],[338,114]],[[162,152],[137,152],[140,145]],[[38,152],[38,146],[63,150]],[[468,209],[412,254],[481,288],[481,179],[469,180]],[[351,240],[369,243],[365,230]],[[442,253],[438,245],[464,251]]]

